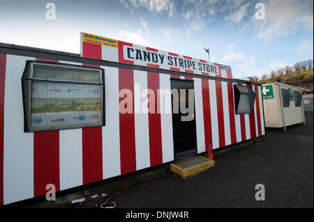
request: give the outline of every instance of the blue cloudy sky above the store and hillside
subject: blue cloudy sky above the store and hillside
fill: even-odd
[[[74,53],[80,31],[204,60],[209,47],[240,79],[313,58],[313,0],[0,0],[0,27],[0,42]]]

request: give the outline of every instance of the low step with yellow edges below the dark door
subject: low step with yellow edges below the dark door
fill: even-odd
[[[205,157],[188,157],[170,164],[170,170],[181,177],[195,175],[215,165],[215,162]]]

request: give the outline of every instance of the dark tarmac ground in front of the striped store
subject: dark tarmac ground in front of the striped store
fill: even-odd
[[[110,193],[117,207],[313,207],[313,112],[305,125],[267,129],[259,144],[215,158],[185,179],[165,173]],[[265,200],[255,200],[263,184]]]

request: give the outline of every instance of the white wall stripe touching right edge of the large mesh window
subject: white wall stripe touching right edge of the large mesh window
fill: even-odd
[[[103,179],[121,175],[119,134],[119,69],[105,69],[105,126],[103,127]]]

